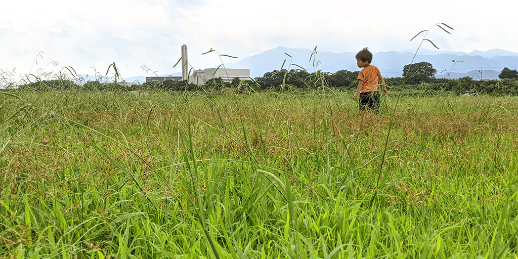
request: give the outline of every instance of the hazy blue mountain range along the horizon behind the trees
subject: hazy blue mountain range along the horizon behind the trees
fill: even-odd
[[[325,52],[317,49],[295,49],[277,47],[262,53],[246,57],[239,62],[225,64],[227,68],[250,69],[250,77],[261,77],[266,72],[283,69],[304,68],[308,72],[318,69],[329,73],[347,69],[357,71],[356,52]],[[373,54],[372,65],[376,65],[384,77],[401,77],[403,67],[407,64],[428,62],[437,70],[436,78],[471,77],[474,80],[498,79],[504,67],[518,68],[518,53],[491,49],[487,51],[442,52],[420,50],[415,55],[411,51],[388,51]],[[214,65],[217,67],[219,64]],[[181,73],[160,76],[181,76]],[[145,82],[146,77],[125,78],[126,82]]]

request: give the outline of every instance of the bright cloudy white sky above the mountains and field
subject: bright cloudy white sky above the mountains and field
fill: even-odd
[[[278,46],[415,51],[424,34],[410,39],[423,30],[441,51],[518,52],[518,1],[1,1],[0,80],[105,76],[108,68],[113,76],[112,63],[124,78],[172,74],[182,45],[194,69]]]

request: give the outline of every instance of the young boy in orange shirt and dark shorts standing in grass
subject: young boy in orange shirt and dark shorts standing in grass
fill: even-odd
[[[358,100],[360,110],[372,109],[379,111],[380,95],[378,93],[378,81],[383,85],[383,94],[387,94],[385,81],[381,76],[380,69],[370,64],[372,62],[372,53],[368,48],[363,48],[356,54],[356,65],[363,68],[358,74],[358,90],[354,95],[354,99]]]

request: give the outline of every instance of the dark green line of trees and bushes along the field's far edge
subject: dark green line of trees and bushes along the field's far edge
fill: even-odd
[[[328,87],[343,91],[354,90],[357,87],[359,71],[338,70],[335,73],[322,73],[320,70],[309,73],[303,69],[273,70],[262,77],[252,80],[224,81],[221,78],[212,78],[203,85],[189,83],[186,80],[167,80],[125,86],[118,83],[100,83],[89,81],[78,84],[71,80],[43,80],[19,85],[19,89],[66,90],[82,89],[85,91],[135,91],[135,90],[165,90],[165,91],[210,91],[210,92],[241,92],[245,88],[254,91],[265,90],[311,90]],[[518,72],[507,67],[503,68],[499,78],[501,80],[473,80],[471,77],[460,79],[435,78],[437,70],[428,62],[406,65],[401,77],[386,78],[389,90],[405,91],[408,94],[434,94],[437,91],[454,93],[480,94],[518,94]]]

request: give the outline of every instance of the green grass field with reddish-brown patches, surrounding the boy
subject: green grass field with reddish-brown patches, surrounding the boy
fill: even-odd
[[[0,100],[0,257],[518,258],[515,96]]]

